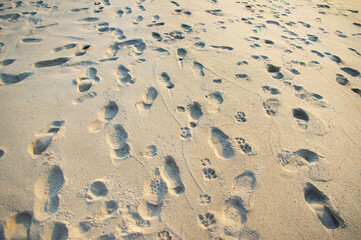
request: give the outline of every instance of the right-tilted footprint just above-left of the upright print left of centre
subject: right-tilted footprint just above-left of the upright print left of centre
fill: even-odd
[[[109,101],[98,111],[98,119],[92,122],[88,130],[90,132],[100,132],[118,114],[118,105],[114,101]]]

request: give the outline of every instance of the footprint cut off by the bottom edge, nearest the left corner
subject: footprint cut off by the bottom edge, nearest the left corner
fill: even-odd
[[[19,212],[8,218],[5,223],[4,239],[30,239],[32,212]],[[1,238],[0,234],[0,238]]]

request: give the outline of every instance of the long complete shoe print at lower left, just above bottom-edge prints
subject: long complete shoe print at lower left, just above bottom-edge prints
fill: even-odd
[[[53,165],[51,169],[40,175],[34,186],[36,219],[46,219],[58,211],[60,201],[58,192],[64,183],[63,171],[58,165]]]

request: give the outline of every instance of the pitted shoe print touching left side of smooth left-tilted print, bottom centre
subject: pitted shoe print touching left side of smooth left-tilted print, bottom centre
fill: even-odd
[[[168,192],[167,184],[161,177],[158,168],[144,182],[143,201],[138,212],[144,219],[151,219],[160,215],[163,199]]]

